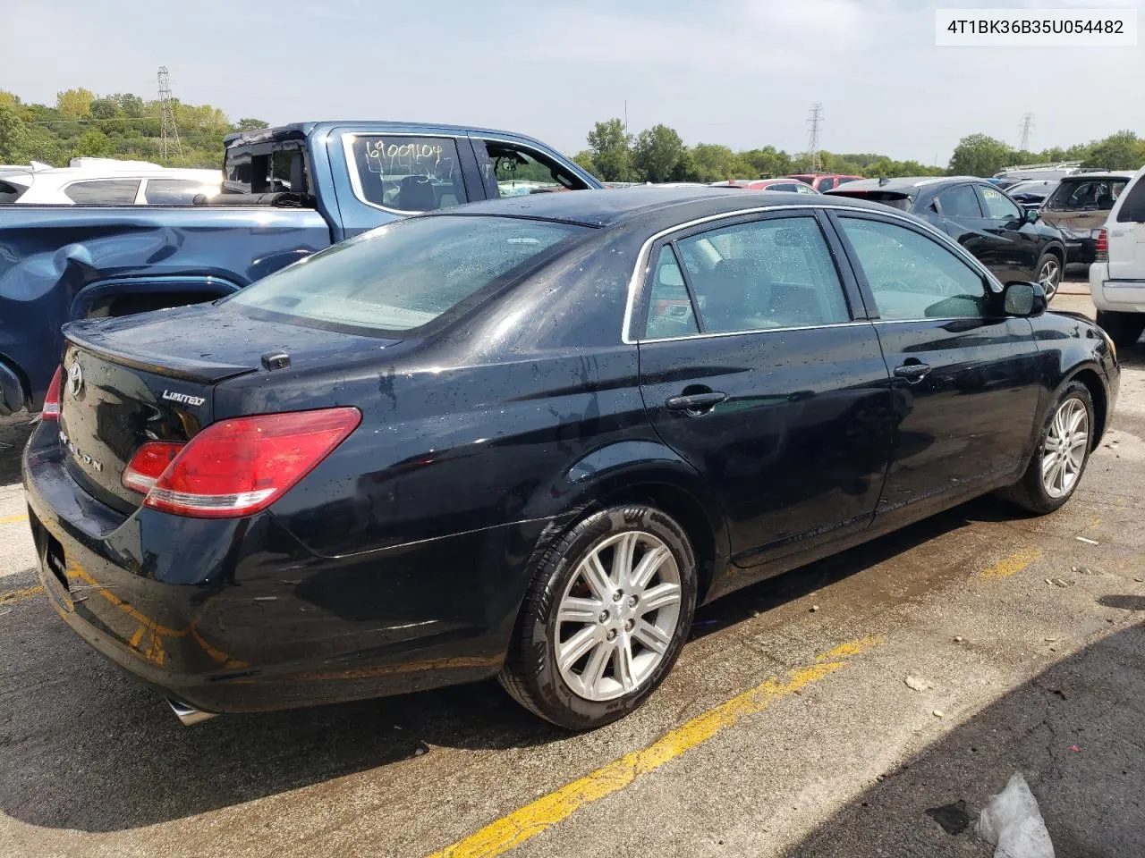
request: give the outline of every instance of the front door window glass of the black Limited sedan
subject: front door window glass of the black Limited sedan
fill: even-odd
[[[981,275],[934,239],[883,221],[839,217],[884,319],[989,315]]]

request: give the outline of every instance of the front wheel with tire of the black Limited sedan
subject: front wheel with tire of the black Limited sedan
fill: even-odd
[[[1000,494],[1037,515],[1059,509],[1085,472],[1095,430],[1089,388],[1072,381],[1050,407],[1026,472]]]

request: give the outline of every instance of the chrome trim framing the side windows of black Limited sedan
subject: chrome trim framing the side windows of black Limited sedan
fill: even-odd
[[[820,194],[828,196],[828,194]],[[926,223],[922,219],[910,217],[899,214],[895,209],[887,208],[885,212],[876,212],[868,208],[856,208],[854,206],[838,206],[838,205],[823,205],[822,202],[806,202],[804,205],[782,205],[782,206],[757,206],[753,208],[740,208],[734,212],[720,212],[714,215],[706,215],[704,217],[697,217],[693,221],[687,221],[686,223],[678,223],[674,227],[661,230],[650,238],[646,239],[640,246],[640,253],[637,254],[637,264],[632,270],[632,277],[629,278],[629,293],[624,303],[624,325],[621,328],[621,342],[625,345],[638,345],[642,342],[665,342],[676,340],[695,340],[695,339],[708,339],[713,336],[739,336],[741,334],[767,334],[773,332],[785,332],[785,331],[807,331],[820,327],[840,327],[848,325],[870,325],[876,323],[883,324],[902,324],[907,321],[956,321],[958,319],[974,319],[981,318],[979,316],[957,316],[953,318],[923,318],[923,319],[852,319],[851,321],[837,321],[827,325],[806,325],[800,327],[769,327],[769,328],[753,328],[748,331],[721,331],[719,333],[702,333],[702,334],[688,334],[686,336],[670,336],[670,337],[657,337],[657,339],[641,339],[635,340],[632,337],[632,311],[635,307],[637,293],[640,289],[641,284],[648,277],[648,264],[649,255],[652,254],[652,246],[660,241],[665,236],[671,236],[673,232],[682,232],[692,229],[693,227],[700,227],[704,223],[711,223],[713,221],[726,221],[734,217],[742,217],[743,215],[761,214],[764,212],[810,212],[814,214],[819,209],[831,209],[834,212],[850,212],[859,214],[875,214],[882,217],[889,217],[892,221],[901,221],[908,227],[922,227],[925,231],[931,232],[937,236],[943,247],[954,253],[955,256],[961,259],[963,262],[968,263],[973,270],[981,273],[986,281],[992,286],[995,293],[1002,292],[1002,284],[994,273],[987,269],[981,262],[978,261],[973,255],[970,254],[962,245],[953,241],[949,236],[940,230],[935,229],[931,224]],[[830,245],[830,241],[828,241]]]

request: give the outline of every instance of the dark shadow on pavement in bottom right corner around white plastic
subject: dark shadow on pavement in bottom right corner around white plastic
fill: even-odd
[[[993,855],[974,823],[1014,772],[1034,792],[1058,858],[1145,855],[1145,625],[1099,639],[987,706],[784,856]]]

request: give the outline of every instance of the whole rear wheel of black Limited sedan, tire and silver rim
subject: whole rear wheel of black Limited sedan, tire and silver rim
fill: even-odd
[[[642,505],[589,515],[538,563],[502,685],[569,730],[616,721],[672,668],[696,591],[695,551],[671,516]]]

